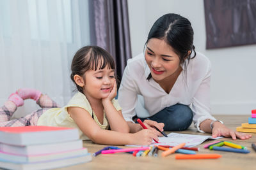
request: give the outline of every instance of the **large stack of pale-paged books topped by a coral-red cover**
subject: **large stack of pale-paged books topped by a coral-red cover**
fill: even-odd
[[[77,129],[67,127],[0,127],[0,167],[53,169],[92,160]]]

